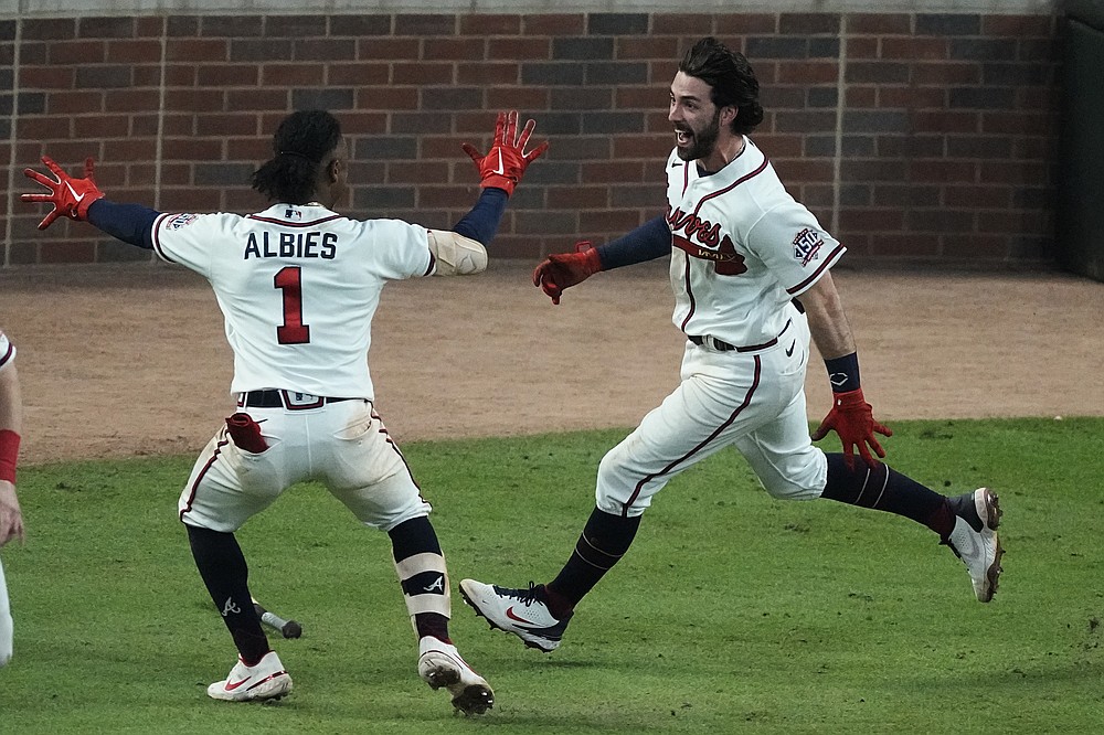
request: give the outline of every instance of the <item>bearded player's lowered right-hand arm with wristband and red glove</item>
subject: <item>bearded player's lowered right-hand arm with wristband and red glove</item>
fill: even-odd
[[[831,274],[826,273],[802,294],[800,301],[809,319],[813,341],[825,359],[832,390],[831,411],[813,433],[813,439],[822,439],[835,429],[843,445],[843,458],[848,465],[854,461],[853,449],[857,447],[862,460],[873,467],[878,460],[870,449],[879,457],[885,456],[874,433],[892,436],[893,432],[874,420],[873,411],[862,396],[854,337]]]

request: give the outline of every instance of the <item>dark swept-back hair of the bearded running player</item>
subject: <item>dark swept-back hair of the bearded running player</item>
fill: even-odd
[[[679,62],[679,71],[708,84],[710,97],[720,107],[733,106],[739,113],[732,121],[737,135],[751,132],[763,121],[763,107],[758,104],[758,79],[751,64],[739,51],[707,36],[693,44]]]

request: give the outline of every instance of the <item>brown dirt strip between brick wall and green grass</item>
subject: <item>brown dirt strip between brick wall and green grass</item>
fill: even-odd
[[[389,285],[376,404],[400,441],[633,426],[677,383],[666,266],[599,274],[553,307],[532,264]],[[1104,415],[1104,284],[1064,274],[857,271],[836,279],[875,416]],[[201,278],[161,265],[0,273],[19,349],[22,462],[198,451],[233,411]],[[810,370],[810,418],[828,407]]]

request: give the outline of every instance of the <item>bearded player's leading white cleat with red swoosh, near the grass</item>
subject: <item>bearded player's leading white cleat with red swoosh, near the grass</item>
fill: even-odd
[[[491,628],[513,633],[529,648],[539,648],[545,653],[560,648],[563,631],[571,620],[570,615],[562,620],[552,615],[542,599],[543,588],[531,582],[529,589],[510,589],[463,579],[460,596]]]

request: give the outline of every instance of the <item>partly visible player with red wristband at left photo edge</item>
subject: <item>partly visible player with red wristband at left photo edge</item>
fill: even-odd
[[[15,345],[0,331],[0,546],[23,541],[23,513],[15,497],[15,460],[23,430],[23,402],[15,372]],[[0,667],[11,660],[13,624],[8,582],[0,564]]]

